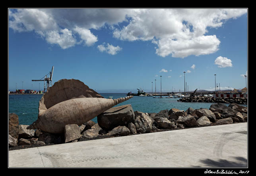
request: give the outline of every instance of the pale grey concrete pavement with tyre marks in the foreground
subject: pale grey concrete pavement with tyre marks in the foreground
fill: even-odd
[[[247,122],[9,151],[9,167],[247,167]]]

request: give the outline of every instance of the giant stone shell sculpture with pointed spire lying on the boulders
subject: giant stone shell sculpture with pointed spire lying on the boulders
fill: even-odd
[[[106,99],[80,80],[62,79],[42,96],[38,119],[27,129],[63,133],[65,125],[81,125],[132,97]]]

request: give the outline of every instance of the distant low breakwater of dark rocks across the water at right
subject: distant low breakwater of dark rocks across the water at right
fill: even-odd
[[[223,97],[185,97],[177,101],[182,102],[204,102],[204,103],[237,103],[247,104],[247,98],[223,98]]]

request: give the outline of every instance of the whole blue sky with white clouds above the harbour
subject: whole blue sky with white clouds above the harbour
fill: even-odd
[[[247,9],[9,9],[9,91],[78,79],[100,92],[244,88]],[[43,82],[40,86],[43,90]]]

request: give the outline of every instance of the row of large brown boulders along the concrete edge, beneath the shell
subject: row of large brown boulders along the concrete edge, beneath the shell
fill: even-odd
[[[9,113],[9,150],[247,122],[247,107],[237,103],[228,107],[215,103],[209,109],[188,108],[184,111],[172,108],[159,113],[143,113],[133,111],[131,105],[122,105],[98,115],[97,121],[88,121],[81,126],[69,124],[63,134],[50,134],[39,129],[28,130],[28,125],[19,124],[15,113]]]

